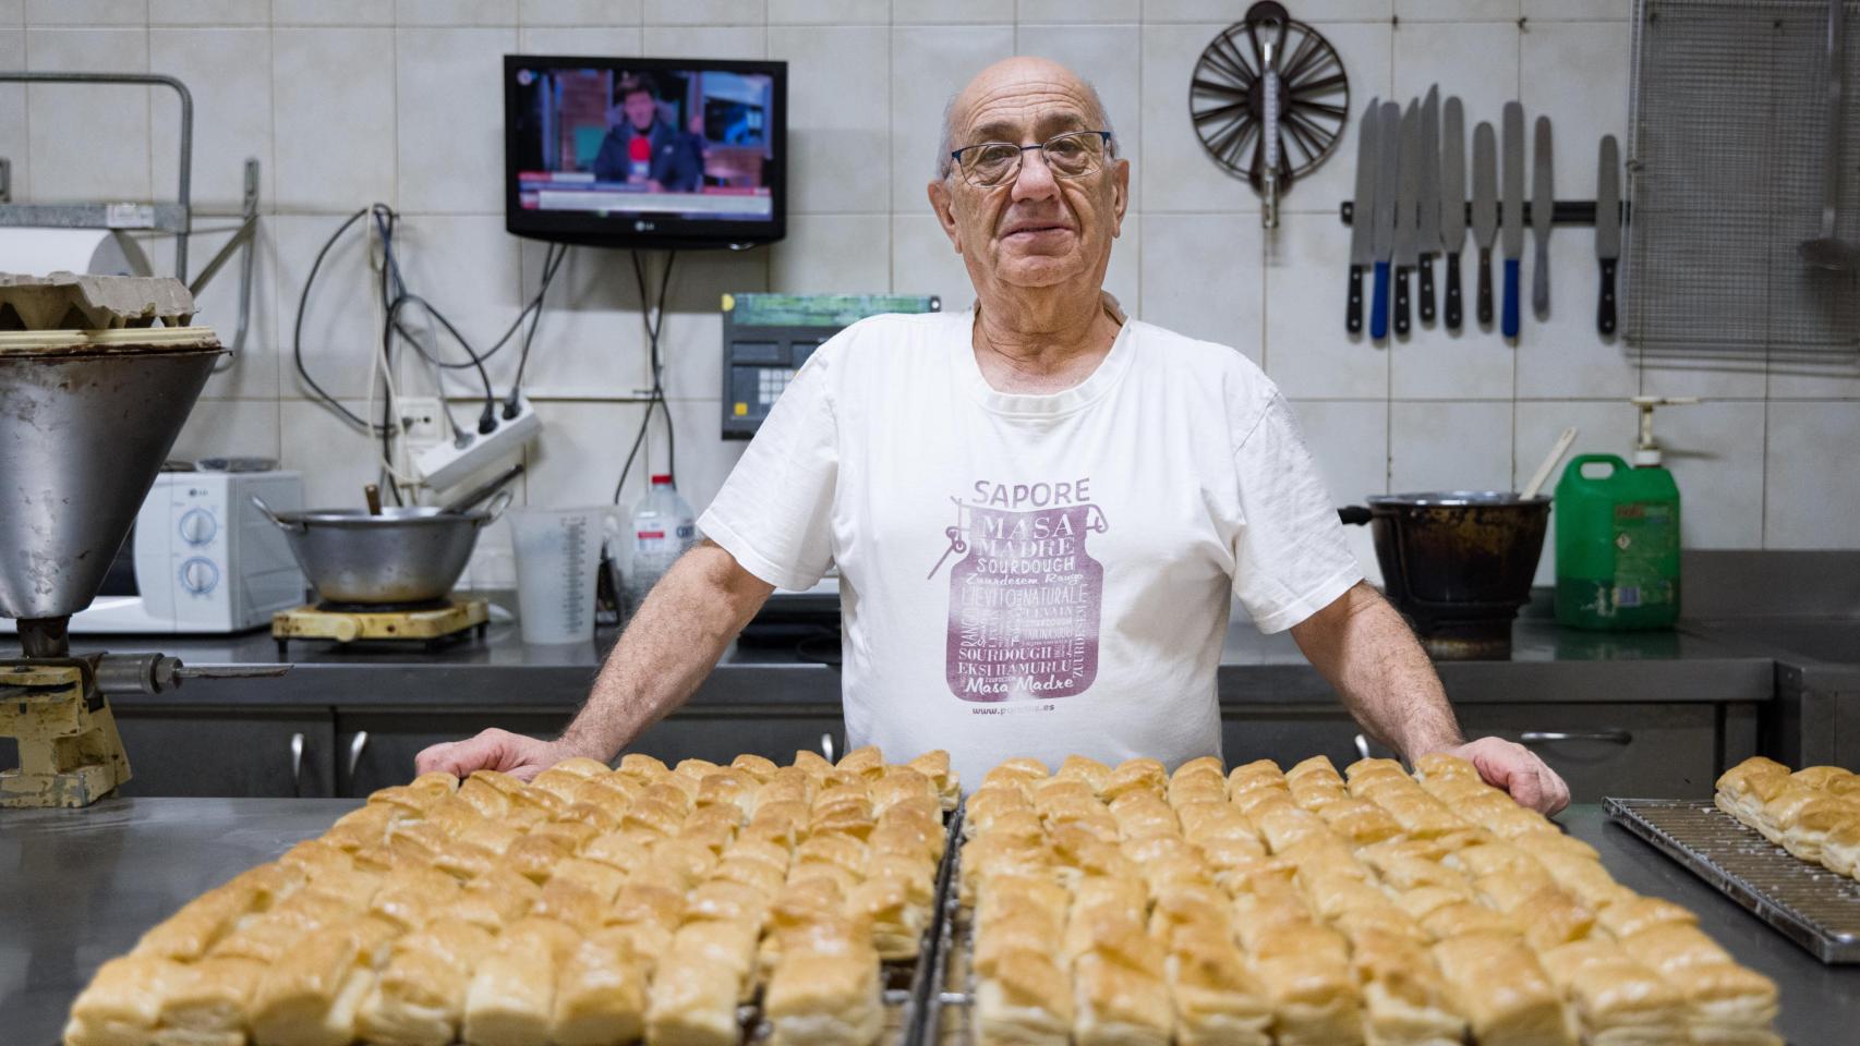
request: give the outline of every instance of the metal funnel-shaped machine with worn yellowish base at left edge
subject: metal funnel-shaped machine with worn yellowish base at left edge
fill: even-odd
[[[0,806],[87,806],[128,780],[113,693],[166,693],[190,676],[166,654],[73,656],[71,615],[102,587],[162,459],[225,351],[190,327],[177,279],[0,275]]]

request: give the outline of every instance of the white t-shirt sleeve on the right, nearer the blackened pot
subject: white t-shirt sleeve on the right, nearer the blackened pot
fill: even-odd
[[[1233,595],[1259,632],[1283,632],[1363,580],[1343,524],[1278,390],[1233,455],[1241,520]]]

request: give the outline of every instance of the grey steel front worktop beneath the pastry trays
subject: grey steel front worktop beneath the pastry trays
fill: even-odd
[[[9,1044],[58,1040],[99,962],[128,949],[188,897],[324,830],[352,799],[112,799],[89,810],[0,812],[0,1027]],[[1741,962],[1782,987],[1795,1046],[1853,1042],[1860,966],[1823,966],[1596,806],[1562,823],[1614,877],[1668,897]]]

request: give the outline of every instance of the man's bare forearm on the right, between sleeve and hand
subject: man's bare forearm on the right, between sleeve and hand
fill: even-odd
[[[1363,730],[1408,760],[1464,741],[1427,650],[1369,583],[1296,624],[1293,637]]]

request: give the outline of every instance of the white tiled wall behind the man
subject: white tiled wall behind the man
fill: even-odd
[[[264,163],[259,290],[247,351],[206,398],[179,455],[279,455],[309,498],[352,503],[370,442],[309,401],[290,364],[292,321],[324,238],[370,201],[404,216],[407,279],[476,340],[517,314],[543,249],[502,229],[497,58],[512,50],[779,58],[790,63],[789,240],[677,260],[664,325],[681,489],[703,505],[740,444],[718,438],[718,295],[740,290],[939,294],[971,299],[924,203],[950,91],[1008,54],[1090,76],[1133,162],[1133,214],[1110,264],[1125,308],[1233,346],[1300,409],[1339,503],[1417,487],[1521,483],[1564,425],[1577,450],[1626,453],[1639,392],[1711,401],[1661,412],[1685,492],[1685,537],[1709,548],[1860,548],[1860,368],[1642,368],[1594,333],[1596,266],[1583,229],[1551,238],[1553,316],[1507,346],[1468,327],[1417,327],[1380,347],[1343,333],[1354,117],[1371,97],[1438,82],[1468,126],[1508,98],[1557,126],[1559,197],[1594,193],[1603,134],[1626,137],[1629,0],[1293,0],[1350,76],[1350,132],[1265,232],[1254,193],[1202,152],[1189,71],[1246,4],[1233,0],[0,0],[0,67],[154,71],[195,97],[195,201],[236,208],[240,162]],[[15,199],[166,197],[175,104],[0,87],[0,154]],[[130,104],[121,104],[123,98]],[[147,113],[147,119],[145,119]],[[78,132],[76,128],[82,128]],[[203,217],[195,264],[223,242]],[[1471,245],[1469,245],[1471,247]],[[167,251],[153,251],[167,258]],[[653,262],[658,264],[657,260]],[[1473,251],[1464,275],[1473,281]],[[1529,262],[1527,262],[1529,266]],[[232,273],[205,294],[231,331]],[[379,321],[359,234],[324,264],[303,323],[311,370],[363,409]],[[513,353],[493,364],[510,379]],[[530,503],[603,502],[640,422],[647,383],[625,255],[573,249],[539,329],[528,390],[545,420]],[[426,381],[415,375],[418,388]],[[454,392],[469,392],[458,385]],[[664,463],[657,424],[649,453]],[[625,500],[638,492],[629,483]],[[474,580],[508,582],[502,528]],[[1369,535],[1352,531],[1365,561]],[[1371,563],[1373,567],[1373,563]],[[1542,578],[1549,578],[1546,554]]]

